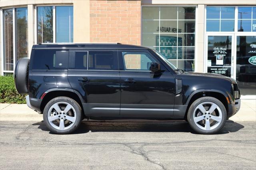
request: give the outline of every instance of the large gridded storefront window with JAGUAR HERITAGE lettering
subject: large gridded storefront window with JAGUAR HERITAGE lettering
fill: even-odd
[[[194,71],[196,7],[142,7],[142,45]]]

